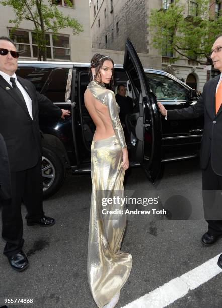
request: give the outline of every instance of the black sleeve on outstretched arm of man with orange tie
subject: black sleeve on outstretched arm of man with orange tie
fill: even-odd
[[[195,105],[182,109],[167,110],[167,120],[183,120],[183,119],[195,119],[204,114],[204,95],[205,86],[203,92],[200,95]]]

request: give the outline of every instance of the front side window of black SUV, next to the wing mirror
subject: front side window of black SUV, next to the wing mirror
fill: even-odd
[[[161,101],[185,101],[187,100],[189,90],[176,82],[175,80],[159,75],[146,73],[146,78],[150,89]]]

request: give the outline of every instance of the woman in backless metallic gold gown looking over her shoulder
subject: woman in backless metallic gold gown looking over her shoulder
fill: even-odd
[[[113,85],[113,60],[95,54],[90,75],[84,101],[96,131],[91,146],[88,282],[97,306],[112,308],[132,267],[132,256],[120,251],[126,226],[121,198],[124,198],[123,180],[129,160],[119,106],[114,92],[105,87]]]

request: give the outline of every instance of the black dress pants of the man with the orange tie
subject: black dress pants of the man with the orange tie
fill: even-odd
[[[217,175],[209,159],[207,168],[202,170],[203,208],[208,232],[222,234],[222,176]]]

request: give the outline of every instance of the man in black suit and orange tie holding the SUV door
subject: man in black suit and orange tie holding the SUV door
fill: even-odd
[[[214,68],[222,72],[222,35],[218,36],[211,50]],[[208,232],[202,243],[212,245],[222,235],[222,74],[209,80],[203,87],[197,103],[188,108],[168,110],[158,102],[166,119],[197,118],[204,114],[204,129],[200,149],[202,169],[203,206]],[[216,220],[217,219],[217,220]],[[222,255],[218,260],[222,268]]]

